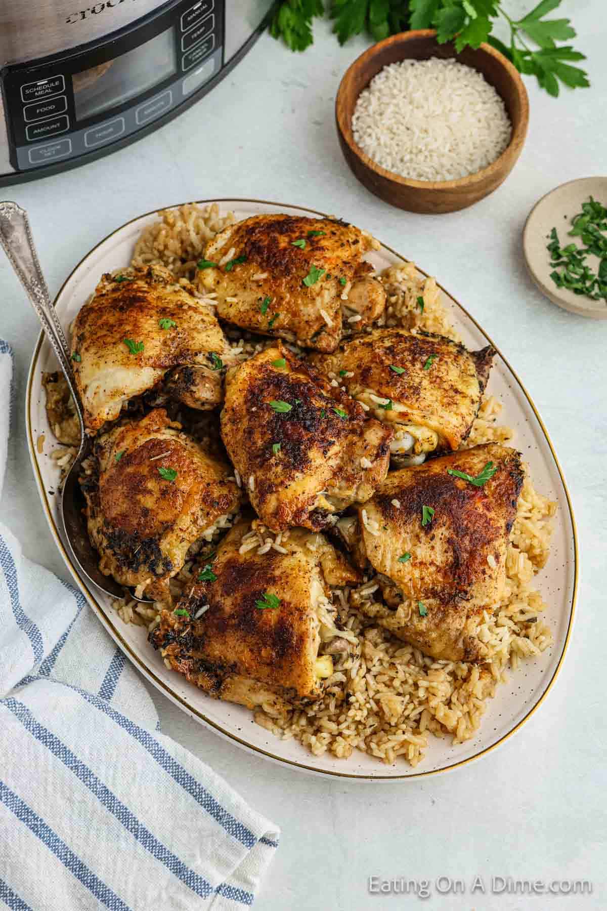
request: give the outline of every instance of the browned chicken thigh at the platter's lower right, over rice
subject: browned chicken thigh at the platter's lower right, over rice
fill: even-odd
[[[477,477],[488,462],[497,471],[483,486],[447,470]],[[365,505],[365,517],[359,508],[358,556],[368,558],[383,577],[389,604],[400,605],[396,611],[376,610],[381,626],[433,658],[489,657],[478,628],[483,610],[491,613],[503,595],[523,478],[520,454],[498,444],[389,474]],[[425,527],[424,506],[434,509]],[[408,553],[410,558],[400,561]]]

